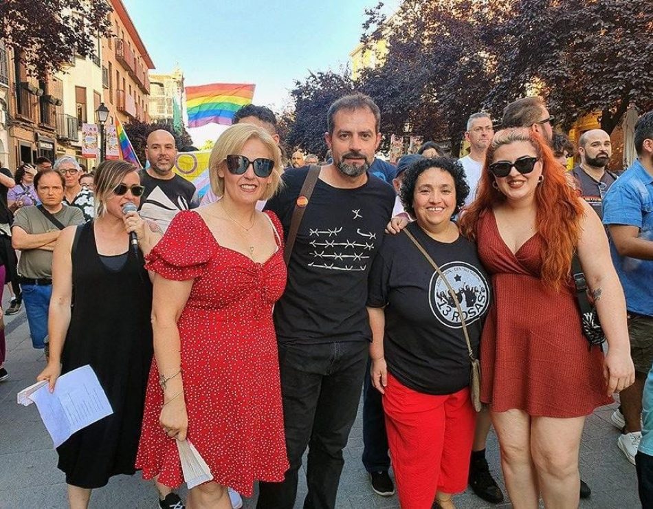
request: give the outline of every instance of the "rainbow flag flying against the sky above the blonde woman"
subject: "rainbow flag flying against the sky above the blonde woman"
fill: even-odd
[[[186,87],[188,127],[215,124],[231,125],[234,113],[249,105],[256,85],[243,83],[212,83]]]

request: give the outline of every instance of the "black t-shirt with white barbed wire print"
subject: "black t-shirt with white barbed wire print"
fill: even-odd
[[[285,187],[265,208],[281,220],[285,237],[308,168],[283,174]],[[280,342],[368,341],[367,275],[395,205],[391,186],[370,175],[354,189],[318,180],[274,307]]]

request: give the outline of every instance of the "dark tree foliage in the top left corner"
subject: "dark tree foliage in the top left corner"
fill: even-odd
[[[96,36],[110,34],[108,1],[2,0],[0,39],[22,54],[27,72],[44,79],[75,53],[97,55]]]

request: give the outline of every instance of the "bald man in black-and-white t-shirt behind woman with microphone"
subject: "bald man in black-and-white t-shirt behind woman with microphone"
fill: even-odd
[[[145,186],[140,215],[166,231],[180,210],[199,206],[199,196],[195,186],[173,171],[177,149],[172,134],[164,129],[151,132],[145,155],[150,166],[140,172],[141,184]]]

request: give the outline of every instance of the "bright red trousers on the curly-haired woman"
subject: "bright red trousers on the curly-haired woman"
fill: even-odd
[[[430,509],[436,492],[464,491],[476,422],[469,389],[432,396],[388,373],[383,406],[401,508]]]

